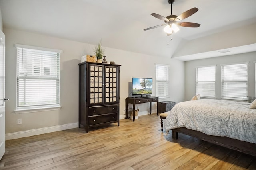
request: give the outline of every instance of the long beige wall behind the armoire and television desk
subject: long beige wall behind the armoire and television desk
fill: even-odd
[[[93,54],[94,45],[59,39],[35,33],[4,28],[6,35],[6,133],[29,131],[45,127],[78,123],[78,63],[82,55]],[[63,50],[60,56],[60,105],[59,111],[16,114],[16,48],[24,44]],[[104,40],[102,40],[104,46]],[[106,48],[106,60],[115,61],[120,67],[120,118],[124,116],[125,98],[129,95],[129,82],[132,77],[153,78],[155,82],[155,63],[170,65],[170,98],[181,102],[184,100],[184,62],[156,56],[132,53],[118,49]],[[153,86],[155,94],[155,86]],[[139,105],[140,112],[149,113],[148,104]],[[156,104],[152,106],[156,109]],[[17,119],[22,124],[17,125]]]

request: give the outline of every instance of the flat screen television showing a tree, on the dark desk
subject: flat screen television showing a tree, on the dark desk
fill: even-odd
[[[132,78],[132,95],[152,94],[152,78]]]

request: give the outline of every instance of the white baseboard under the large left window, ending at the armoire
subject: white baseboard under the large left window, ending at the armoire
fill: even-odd
[[[78,122],[68,123],[68,124],[65,124],[65,125],[43,127],[43,128],[32,129],[32,130],[28,130],[28,131],[7,133],[7,134],[5,134],[5,140],[18,139],[18,138],[22,138],[22,137],[29,137],[29,136],[40,135],[40,134],[56,132],[56,131],[63,131],[63,130],[66,130],[66,129],[73,129],[73,128],[76,128],[76,127],[78,127]]]

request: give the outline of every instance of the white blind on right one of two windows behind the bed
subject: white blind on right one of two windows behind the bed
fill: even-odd
[[[242,100],[248,90],[248,63],[221,66],[222,98]]]

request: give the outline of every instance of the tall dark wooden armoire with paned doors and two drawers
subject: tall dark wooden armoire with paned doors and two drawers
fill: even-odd
[[[120,65],[79,63],[79,127],[119,126]]]

